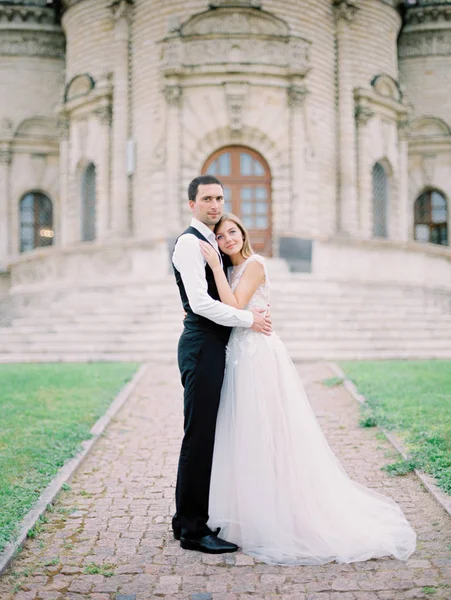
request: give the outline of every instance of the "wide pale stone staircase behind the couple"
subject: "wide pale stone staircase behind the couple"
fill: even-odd
[[[278,261],[271,281],[274,329],[293,360],[451,358],[451,291],[321,281]],[[37,299],[0,327],[0,362],[176,360],[172,276]]]

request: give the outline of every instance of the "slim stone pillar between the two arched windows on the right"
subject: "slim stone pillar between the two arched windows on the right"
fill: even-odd
[[[400,242],[413,239],[413,206],[409,202],[409,127],[407,121],[398,123],[399,172],[398,172],[398,227]]]

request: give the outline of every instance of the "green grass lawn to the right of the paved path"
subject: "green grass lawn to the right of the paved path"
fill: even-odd
[[[387,466],[394,474],[419,468],[451,494],[451,361],[340,363],[369,404],[362,424],[395,430],[408,461]]]

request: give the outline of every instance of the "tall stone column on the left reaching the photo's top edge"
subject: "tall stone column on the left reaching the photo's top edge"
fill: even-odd
[[[114,18],[114,102],[112,121],[112,180],[110,236],[130,231],[127,139],[129,130],[129,37],[131,4],[117,0],[111,6]]]

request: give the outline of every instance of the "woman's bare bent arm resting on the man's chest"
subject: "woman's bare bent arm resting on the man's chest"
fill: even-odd
[[[256,289],[263,282],[265,277],[263,265],[257,261],[250,262],[246,267],[235,292],[232,292],[221,263],[219,262],[218,253],[207,242],[201,241],[200,247],[205,260],[213,271],[221,302],[224,302],[224,304],[228,304],[229,306],[234,306],[235,308],[244,308],[247,306],[249,300],[252,298]]]

